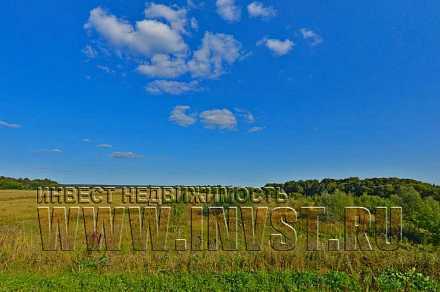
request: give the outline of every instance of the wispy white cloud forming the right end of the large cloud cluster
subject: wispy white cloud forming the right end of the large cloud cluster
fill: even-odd
[[[240,57],[241,44],[232,35],[205,32],[201,47],[188,62],[193,77],[216,78],[224,73],[225,64]]]

